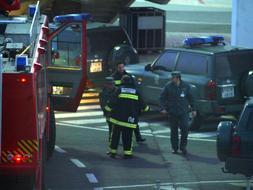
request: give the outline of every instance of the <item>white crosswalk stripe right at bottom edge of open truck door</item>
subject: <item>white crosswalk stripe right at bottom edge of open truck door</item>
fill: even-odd
[[[56,119],[76,118],[76,117],[86,117],[86,116],[103,116],[103,112],[102,111],[89,111],[89,112],[57,113],[57,114],[55,114]]]

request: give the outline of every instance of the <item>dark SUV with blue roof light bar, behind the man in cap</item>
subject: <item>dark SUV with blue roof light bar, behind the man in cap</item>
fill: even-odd
[[[171,72],[181,71],[191,86],[197,116],[189,121],[198,129],[203,120],[224,114],[239,115],[245,96],[252,95],[253,49],[224,45],[223,37],[189,38],[181,48],[163,51],[152,64],[129,65],[144,100],[159,106]],[[251,88],[251,90],[250,90]]]

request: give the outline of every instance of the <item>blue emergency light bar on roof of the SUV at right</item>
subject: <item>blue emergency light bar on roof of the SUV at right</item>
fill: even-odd
[[[223,36],[203,36],[203,37],[192,37],[186,38],[183,41],[184,46],[186,47],[193,47],[199,45],[225,45],[224,37]]]

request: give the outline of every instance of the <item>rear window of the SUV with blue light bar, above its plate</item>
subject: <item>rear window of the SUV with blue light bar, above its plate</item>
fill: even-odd
[[[253,52],[236,52],[216,56],[216,77],[241,76],[253,69]]]

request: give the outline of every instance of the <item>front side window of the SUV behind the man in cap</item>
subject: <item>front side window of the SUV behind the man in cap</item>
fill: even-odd
[[[172,71],[175,65],[177,52],[164,52],[155,63],[154,69]]]

